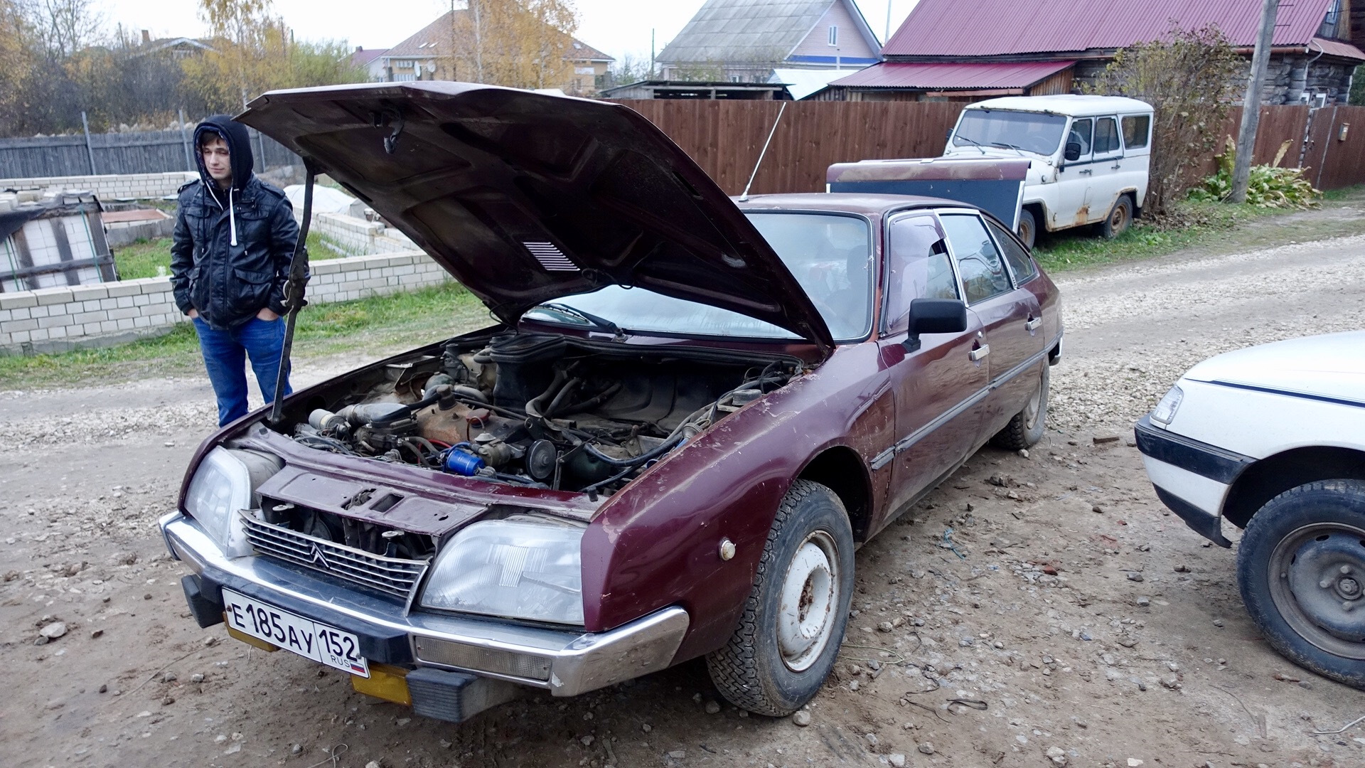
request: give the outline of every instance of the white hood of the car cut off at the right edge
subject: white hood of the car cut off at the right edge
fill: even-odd
[[[1289,339],[1212,357],[1185,379],[1365,402],[1365,331]]]

